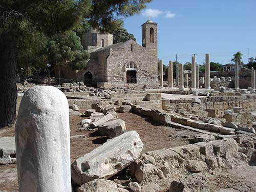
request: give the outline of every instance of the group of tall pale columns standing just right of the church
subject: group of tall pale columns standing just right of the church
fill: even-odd
[[[196,66],[196,58],[192,56],[192,78],[191,78],[191,88],[199,88],[199,66]],[[186,87],[188,87],[188,74],[185,74]],[[183,65],[176,65],[176,82],[179,90],[184,90],[184,70]],[[210,59],[209,54],[205,54],[205,80],[204,77],[201,78],[201,82],[205,83],[205,89],[210,89]],[[163,88],[163,66],[162,60],[160,60],[160,87]],[[169,61],[168,66],[168,87],[173,88],[173,62]]]

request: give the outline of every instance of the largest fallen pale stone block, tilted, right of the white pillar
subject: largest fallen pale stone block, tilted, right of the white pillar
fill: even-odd
[[[108,179],[137,160],[143,143],[136,131],[108,140],[71,165],[71,178],[82,185],[94,179]]]

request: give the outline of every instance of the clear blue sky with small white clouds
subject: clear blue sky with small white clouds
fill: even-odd
[[[139,14],[124,18],[124,28],[141,45],[141,24],[148,18],[158,24],[158,58],[202,65],[230,63],[232,55],[256,57],[256,0],[153,0]]]

